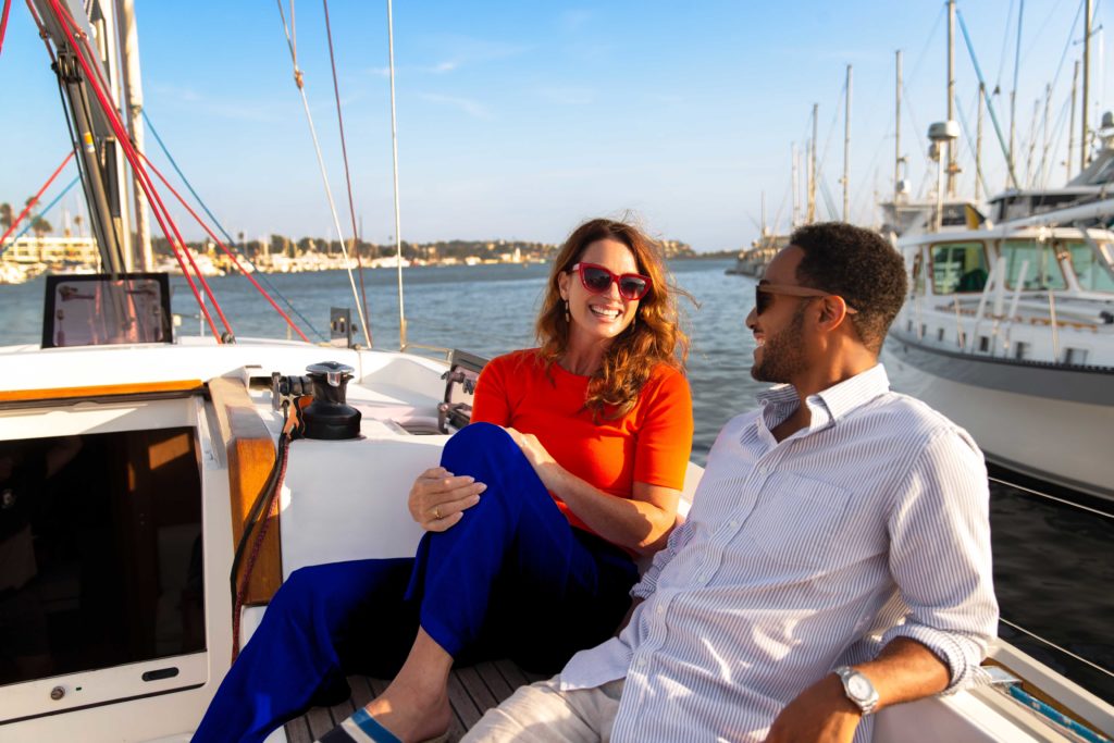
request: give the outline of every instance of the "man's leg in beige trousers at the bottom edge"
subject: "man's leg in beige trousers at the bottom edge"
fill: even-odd
[[[559,676],[522,686],[487,711],[461,743],[607,743],[623,680],[563,692]]]

